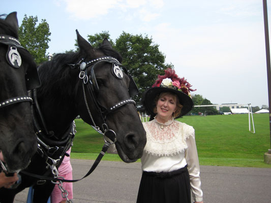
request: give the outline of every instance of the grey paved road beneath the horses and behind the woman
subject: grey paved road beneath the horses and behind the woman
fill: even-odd
[[[82,178],[93,160],[72,159],[75,179]],[[270,203],[271,168],[200,166],[205,203]],[[74,203],[135,202],[141,178],[140,163],[101,161],[87,178],[74,183]],[[27,189],[16,202],[26,202]]]

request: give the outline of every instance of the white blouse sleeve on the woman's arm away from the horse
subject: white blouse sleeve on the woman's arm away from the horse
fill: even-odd
[[[187,150],[185,152],[185,158],[187,161],[187,168],[190,176],[190,185],[192,190],[192,195],[195,201],[203,200],[203,192],[200,188],[200,169],[199,169],[199,160],[198,160],[198,152],[195,141],[195,130],[192,126],[189,126],[190,135],[187,137]]]

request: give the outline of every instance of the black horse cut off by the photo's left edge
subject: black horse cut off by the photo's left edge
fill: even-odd
[[[11,173],[25,168],[37,149],[27,90],[40,85],[34,59],[17,39],[13,12],[0,19],[0,162]]]

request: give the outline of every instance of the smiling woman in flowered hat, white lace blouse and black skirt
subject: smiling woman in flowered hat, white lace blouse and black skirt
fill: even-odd
[[[167,69],[145,92],[143,105],[151,117],[143,123],[147,143],[137,203],[190,203],[191,191],[195,202],[203,202],[194,128],[174,120],[193,107],[190,87]]]

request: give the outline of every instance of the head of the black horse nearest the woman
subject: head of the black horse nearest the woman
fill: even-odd
[[[78,63],[76,84],[79,115],[114,142],[123,161],[133,162],[142,156],[146,144],[145,130],[131,99],[138,93],[136,84],[107,39],[95,49],[77,31],[77,42],[83,58]]]

